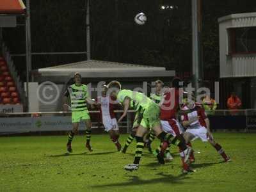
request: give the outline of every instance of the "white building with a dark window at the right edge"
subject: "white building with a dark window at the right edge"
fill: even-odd
[[[256,12],[227,15],[218,22],[220,77],[232,82],[244,108],[256,108]]]

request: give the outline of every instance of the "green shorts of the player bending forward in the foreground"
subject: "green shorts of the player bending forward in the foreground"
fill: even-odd
[[[141,115],[140,115],[141,114]],[[147,109],[142,109],[141,113],[138,117],[139,125],[147,128],[152,129],[156,125],[160,125],[160,108],[157,104],[151,104]],[[141,116],[141,117],[140,117]],[[141,118],[141,119],[140,119]]]

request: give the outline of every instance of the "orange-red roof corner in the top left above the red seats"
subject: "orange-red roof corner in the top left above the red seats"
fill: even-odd
[[[1,0],[0,14],[23,14],[25,5],[22,0]]]

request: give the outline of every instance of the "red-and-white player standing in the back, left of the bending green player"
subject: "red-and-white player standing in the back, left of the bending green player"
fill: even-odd
[[[109,132],[109,136],[113,143],[115,143],[116,149],[120,151],[122,147],[118,141],[119,128],[114,113],[114,110],[118,106],[118,102],[111,100],[111,97],[107,95],[107,92],[108,87],[104,85],[102,86],[102,96],[97,97],[97,103],[99,104],[100,109],[100,117],[102,124],[105,127],[105,131]]]

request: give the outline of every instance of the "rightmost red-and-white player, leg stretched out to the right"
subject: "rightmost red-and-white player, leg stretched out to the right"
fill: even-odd
[[[225,154],[221,145],[216,143],[212,136],[209,118],[207,118],[204,108],[196,103],[194,99],[190,99],[187,100],[184,106],[182,106],[182,111],[190,111],[189,113],[180,116],[182,125],[187,128],[184,133],[186,143],[193,141],[196,138],[200,138],[203,142],[209,141],[212,147],[214,147],[223,157],[225,162],[230,161],[230,157]],[[193,154],[191,154],[189,159],[191,160],[191,163],[195,162]]]

